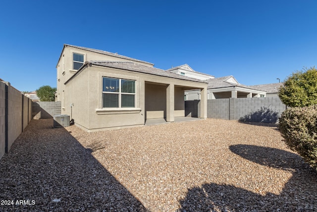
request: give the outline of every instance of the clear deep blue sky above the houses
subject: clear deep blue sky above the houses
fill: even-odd
[[[317,65],[316,11],[316,0],[2,0],[0,78],[20,91],[56,87],[71,44],[275,83]]]

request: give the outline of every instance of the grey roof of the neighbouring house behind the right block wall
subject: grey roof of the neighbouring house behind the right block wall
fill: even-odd
[[[228,81],[229,79],[232,79],[232,78],[234,80],[231,80],[231,81],[236,81],[237,83]],[[237,87],[244,87],[244,88],[255,89],[255,90],[262,90],[259,88],[254,88],[251,86],[240,84],[232,75],[217,77],[217,78],[213,78],[213,79],[207,79],[205,81],[208,82],[208,87],[207,87],[208,89],[237,86]]]

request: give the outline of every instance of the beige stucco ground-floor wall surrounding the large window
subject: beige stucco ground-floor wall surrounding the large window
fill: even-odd
[[[102,106],[102,86],[103,76],[120,79],[130,79],[136,81],[135,108],[103,108]],[[162,77],[152,74],[125,71],[101,66],[87,66],[78,75],[66,83],[65,89],[65,110],[63,114],[71,115],[77,126],[86,131],[97,131],[105,129],[118,129],[123,127],[144,125],[147,110],[163,110],[167,116],[167,85],[175,87],[172,92],[172,110],[169,117],[173,119],[174,105],[178,110],[184,106],[184,92],[180,86],[207,87],[206,83],[184,81],[181,79]],[[151,102],[155,99],[158,105]],[[174,103],[176,101],[176,103]],[[153,115],[153,114],[152,114]],[[164,116],[164,115],[163,115]],[[153,116],[152,118],[154,118]],[[151,117],[150,117],[151,118]],[[167,118],[166,118],[167,119]],[[173,121],[173,120],[172,120]]]

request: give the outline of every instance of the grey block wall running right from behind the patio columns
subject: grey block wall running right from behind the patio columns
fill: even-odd
[[[198,108],[200,108],[199,100],[185,101],[185,115],[199,116]],[[286,105],[279,97],[227,98],[207,101],[207,117],[214,119],[239,120],[247,116],[250,118],[248,121],[260,122],[263,121],[261,119],[263,117],[259,117],[259,114],[267,109],[279,116],[286,110]]]

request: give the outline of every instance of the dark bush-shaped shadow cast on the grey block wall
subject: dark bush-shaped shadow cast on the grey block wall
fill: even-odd
[[[278,112],[266,107],[261,107],[261,109],[258,109],[256,112],[244,115],[239,119],[239,121],[275,124],[278,122]]]

